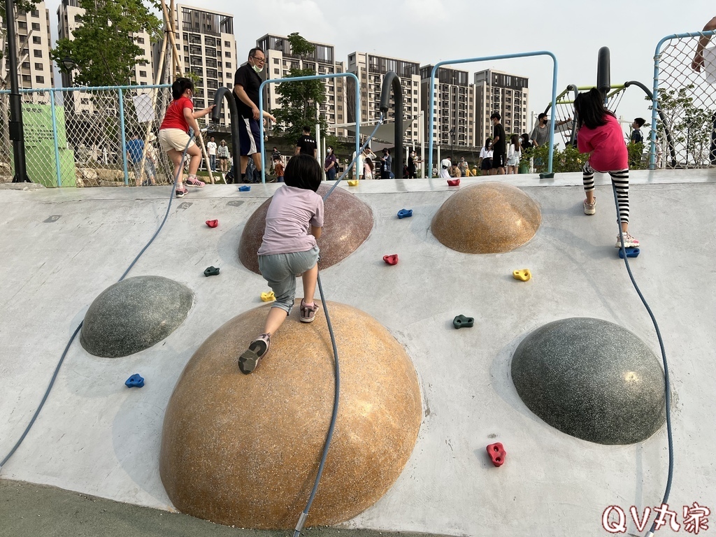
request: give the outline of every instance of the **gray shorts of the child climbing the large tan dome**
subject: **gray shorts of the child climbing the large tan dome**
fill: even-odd
[[[273,253],[258,256],[258,270],[274,290],[276,302],[272,308],[281,308],[291,314],[296,299],[296,277],[313,269],[318,262],[319,248],[314,246],[305,252]]]

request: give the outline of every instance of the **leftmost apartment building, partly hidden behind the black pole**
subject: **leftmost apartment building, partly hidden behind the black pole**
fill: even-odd
[[[45,6],[44,1],[39,2],[35,8],[28,13],[18,13],[15,20],[19,54],[17,80],[21,89],[54,86],[52,61],[49,58],[49,9]],[[2,28],[7,29],[4,19]],[[1,67],[0,74],[6,81],[6,87],[9,88],[7,58],[2,60]],[[37,95],[34,102],[49,102],[49,97]]]

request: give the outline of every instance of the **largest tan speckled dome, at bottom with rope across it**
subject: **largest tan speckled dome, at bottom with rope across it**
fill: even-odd
[[[373,505],[407,463],[422,420],[405,349],[372,317],[329,302],[341,369],[339,413],[307,526]],[[237,359],[268,307],[246,311],[197,349],[168,404],[160,475],[179,511],[241,528],[294,528],[316,477],[334,397],[326,317],[286,319],[252,374]]]

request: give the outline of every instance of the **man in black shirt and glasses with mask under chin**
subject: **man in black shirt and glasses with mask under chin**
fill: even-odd
[[[258,87],[261,85],[261,77],[258,74],[263,71],[266,64],[266,54],[256,47],[248,51],[248,62],[236,70],[233,77],[233,97],[236,100],[238,115],[240,116],[239,142],[241,145],[241,181],[245,183],[258,183],[261,181],[261,134],[258,127]],[[276,121],[276,117],[264,110],[264,120]],[[256,166],[256,176],[246,178],[246,166],[248,158],[253,159]]]

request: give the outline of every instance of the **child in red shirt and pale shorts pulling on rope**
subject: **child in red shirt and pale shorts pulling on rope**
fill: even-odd
[[[203,181],[196,178],[196,172],[201,163],[201,150],[189,136],[189,127],[194,132],[199,132],[199,125],[196,120],[211,113],[214,105],[194,112],[194,83],[188,78],[178,78],[172,84],[173,101],[167,108],[162,125],[159,127],[159,145],[174,163],[174,177],[176,180],[176,196],[183,198],[187,190],[184,186],[183,154],[190,156],[189,176],[186,184],[202,187]]]

